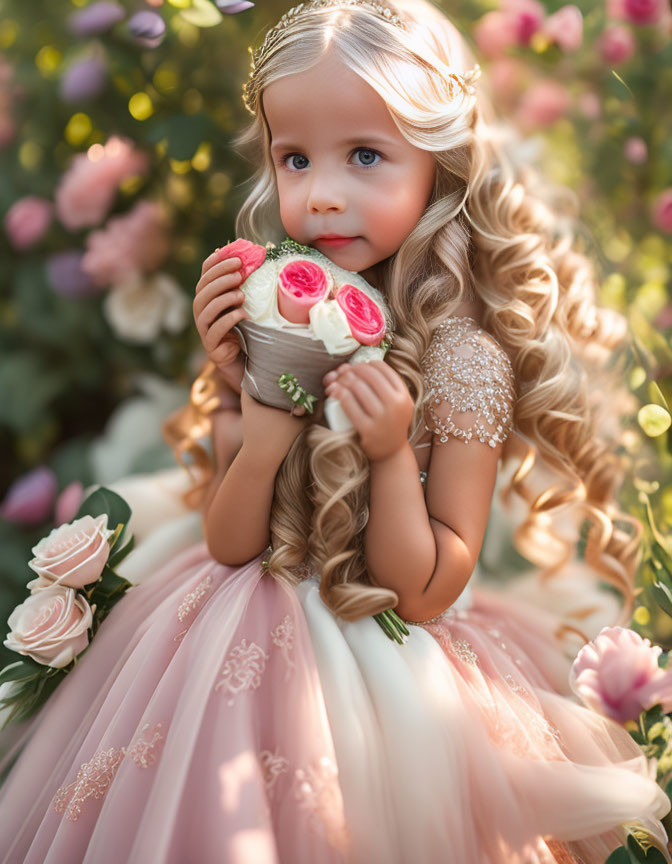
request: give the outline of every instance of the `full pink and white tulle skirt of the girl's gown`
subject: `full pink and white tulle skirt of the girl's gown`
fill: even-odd
[[[633,824],[666,849],[669,800],[571,693],[557,611],[470,583],[399,645],[314,571],[214,561],[165,484],[118,484],[149,526],[134,587],[26,724],[3,864],[603,864]]]

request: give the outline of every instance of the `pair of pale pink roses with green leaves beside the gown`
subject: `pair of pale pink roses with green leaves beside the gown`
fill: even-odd
[[[114,572],[133,548],[124,536],[131,508],[100,487],[72,522],[33,547],[28,566],[37,578],[30,596],[9,616],[3,643],[21,659],[0,672],[0,729],[27,720],[48,699],[89,647],[112,607],[132,587]],[[108,525],[114,526],[113,528]]]

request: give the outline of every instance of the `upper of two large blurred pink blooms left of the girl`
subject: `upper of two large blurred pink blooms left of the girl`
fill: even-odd
[[[78,153],[56,190],[56,214],[70,231],[99,225],[121,183],[146,174],[149,159],[132,141],[112,137]]]

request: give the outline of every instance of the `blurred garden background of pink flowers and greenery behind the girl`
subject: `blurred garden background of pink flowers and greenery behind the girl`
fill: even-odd
[[[665,0],[441,4],[530,159],[576,195],[629,320],[632,627],[672,646],[672,14]],[[0,618],[82,489],[175,465],[161,420],[205,355],[191,303],[251,168],[248,46],[289,4],[0,0]],[[0,648],[0,667],[15,655]]]

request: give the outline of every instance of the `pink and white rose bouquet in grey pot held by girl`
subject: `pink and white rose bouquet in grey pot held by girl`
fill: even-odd
[[[382,359],[391,315],[380,291],[309,246],[289,238],[267,248],[236,240],[220,257],[242,261],[243,308],[236,327],[246,355],[242,387],[275,408],[313,413],[322,378],[344,360]],[[350,424],[337,400],[325,402],[331,428]]]

